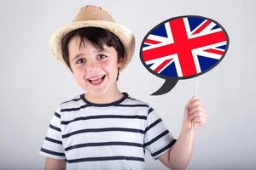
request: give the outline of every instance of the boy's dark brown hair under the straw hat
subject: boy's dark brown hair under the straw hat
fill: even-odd
[[[119,37],[114,35],[111,31],[97,27],[79,28],[77,30],[69,32],[61,40],[62,57],[70,71],[72,71],[72,69],[70,67],[68,59],[69,54],[67,44],[74,36],[79,36],[81,38],[80,46],[82,45],[82,43],[84,43],[84,39],[86,39],[91,42],[96,48],[99,48],[101,50],[103,49],[103,45],[115,48],[118,54],[118,62],[124,58],[125,48],[123,46],[123,43],[119,40]]]

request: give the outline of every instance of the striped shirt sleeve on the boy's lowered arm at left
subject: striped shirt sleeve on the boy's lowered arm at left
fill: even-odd
[[[59,160],[65,160],[64,147],[61,140],[61,114],[60,109],[58,108],[49,123],[48,131],[39,154]]]

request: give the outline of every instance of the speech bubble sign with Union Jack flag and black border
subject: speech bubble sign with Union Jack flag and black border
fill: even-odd
[[[166,94],[180,79],[200,76],[224,59],[230,39],[217,21],[185,15],[154,26],[143,38],[140,59],[166,82],[151,95]]]

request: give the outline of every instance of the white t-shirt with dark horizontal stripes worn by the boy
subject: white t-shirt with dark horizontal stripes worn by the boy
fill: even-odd
[[[176,139],[147,103],[124,97],[93,104],[84,94],[62,103],[49,124],[40,154],[67,160],[67,169],[143,169]]]

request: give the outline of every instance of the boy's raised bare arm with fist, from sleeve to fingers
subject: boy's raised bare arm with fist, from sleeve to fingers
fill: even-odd
[[[194,131],[191,130],[191,122],[194,128],[201,127],[206,122],[205,109],[199,99],[193,97],[185,106],[183,127],[172,149],[162,154],[159,160],[172,169],[186,169],[192,156]],[[190,140],[192,140],[190,148]]]

